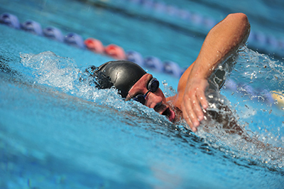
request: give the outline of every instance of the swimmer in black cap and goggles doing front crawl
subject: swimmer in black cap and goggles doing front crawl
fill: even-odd
[[[219,65],[230,60],[236,50],[246,43],[249,32],[250,24],[244,13],[229,14],[214,26],[207,34],[197,59],[180,77],[178,94],[173,97],[166,98],[153,75],[126,60],[110,61],[99,68],[92,67],[89,73],[93,77],[104,75],[105,80],[99,80],[101,88],[114,86],[126,101],[133,99],[141,102],[153,108],[155,112],[165,115],[172,122],[182,117],[195,132],[200,126],[200,121],[204,119],[204,114],[207,114],[209,104],[205,91],[211,85],[209,77],[216,72]],[[217,82],[220,88],[224,80],[222,74],[216,75],[220,75],[221,82]],[[110,82],[107,81],[109,79]],[[218,119],[218,114],[214,113],[214,117]],[[224,119],[219,122],[224,122]],[[229,124],[230,128],[237,125],[236,121]],[[243,133],[240,128],[236,130],[239,134]]]

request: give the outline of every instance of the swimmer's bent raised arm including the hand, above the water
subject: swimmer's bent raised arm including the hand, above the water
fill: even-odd
[[[182,110],[182,117],[192,131],[197,131],[197,126],[204,119],[201,106],[204,109],[208,107],[204,91],[208,87],[209,76],[222,61],[246,43],[249,31],[250,24],[244,13],[226,16],[209,31],[197,59],[180,78],[174,104]]]

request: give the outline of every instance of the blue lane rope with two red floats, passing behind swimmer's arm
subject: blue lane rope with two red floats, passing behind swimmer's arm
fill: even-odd
[[[154,56],[148,56],[143,58],[141,53],[138,53],[135,50],[127,50],[125,51],[119,45],[109,44],[104,46],[101,41],[95,38],[87,38],[83,39],[82,36],[77,33],[67,33],[65,36],[62,32],[53,26],[48,26],[44,29],[41,28],[40,23],[36,21],[25,21],[24,23],[20,23],[18,18],[11,13],[2,13],[0,16],[0,23],[3,23],[11,28],[21,29],[23,31],[27,31],[29,33],[33,33],[38,36],[44,36],[46,38],[50,38],[52,40],[58,41],[60,43],[66,43],[67,45],[72,45],[77,48],[87,49],[92,51],[93,53],[99,53],[102,55],[110,56],[116,60],[129,60],[138,65],[141,65],[146,68],[150,68],[156,72],[163,72],[168,75],[173,75],[174,77],[180,77],[182,73],[186,70],[186,68],[180,68],[178,63],[173,61],[164,61],[162,62],[159,58]],[[228,80],[226,82],[226,89],[236,91],[236,87],[238,84],[232,80]],[[253,97],[257,97],[255,94],[256,90],[246,90],[247,95],[251,95]],[[275,95],[276,92],[268,92],[261,91],[259,94],[265,97],[264,101],[267,103],[273,103],[275,100],[278,100],[280,106],[284,105],[282,99],[283,95],[280,97],[279,92]]]

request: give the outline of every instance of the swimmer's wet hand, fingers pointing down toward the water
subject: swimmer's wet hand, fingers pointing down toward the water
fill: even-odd
[[[209,86],[204,78],[190,78],[185,87],[182,99],[182,117],[187,121],[193,132],[197,131],[200,121],[204,119],[203,109],[207,109],[208,102],[205,97],[205,90]]]

